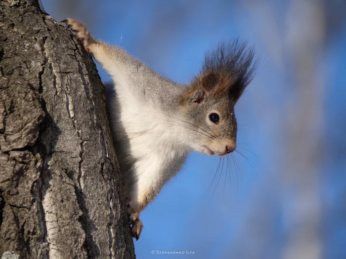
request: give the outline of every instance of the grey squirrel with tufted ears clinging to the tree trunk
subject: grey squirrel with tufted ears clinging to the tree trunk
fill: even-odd
[[[138,240],[139,213],[177,174],[189,152],[225,156],[236,149],[234,106],[254,77],[254,48],[239,40],[219,43],[206,53],[200,73],[182,85],[124,49],[93,39],[86,25],[70,18],[62,22],[113,79],[115,94],[107,94],[107,110],[131,233]]]

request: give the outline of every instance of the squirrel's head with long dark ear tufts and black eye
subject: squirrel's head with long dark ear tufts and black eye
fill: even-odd
[[[194,131],[191,148],[224,156],[236,149],[234,106],[257,67],[255,52],[246,43],[219,43],[207,52],[200,74],[180,99],[180,111]],[[193,126],[192,126],[193,125]]]

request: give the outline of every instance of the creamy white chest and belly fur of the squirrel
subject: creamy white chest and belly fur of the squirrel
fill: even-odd
[[[116,109],[120,120],[116,137],[128,139],[119,148],[128,154],[123,159],[134,162],[130,172],[135,179],[130,189],[133,201],[160,191],[181,168],[189,150],[179,141],[181,130],[174,127],[173,118],[129,94],[125,101],[122,94],[118,96],[121,109]]]

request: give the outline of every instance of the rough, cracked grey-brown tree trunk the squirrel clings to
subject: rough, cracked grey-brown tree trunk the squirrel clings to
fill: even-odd
[[[37,0],[0,1],[0,256],[135,258],[104,87]]]

